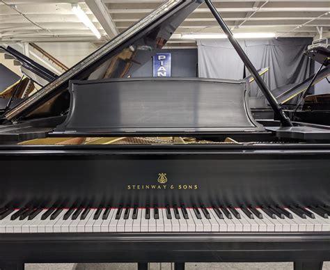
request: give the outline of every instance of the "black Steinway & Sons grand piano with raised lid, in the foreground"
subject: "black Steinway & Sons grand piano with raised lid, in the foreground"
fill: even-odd
[[[130,78],[203,1],[168,1],[1,116],[0,268],[330,260],[330,127],[249,81]]]

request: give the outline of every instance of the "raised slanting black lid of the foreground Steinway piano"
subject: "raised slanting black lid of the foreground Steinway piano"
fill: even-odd
[[[68,109],[68,85],[72,79],[104,79],[127,77],[162,48],[175,29],[203,1],[170,0],[113,40],[94,51],[57,79],[47,84],[4,116],[14,122],[20,118],[55,116],[65,113],[56,104]],[[61,106],[59,106],[61,108]]]

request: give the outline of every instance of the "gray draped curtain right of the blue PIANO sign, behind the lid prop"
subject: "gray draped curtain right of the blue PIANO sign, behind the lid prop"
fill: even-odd
[[[251,62],[258,69],[269,67],[263,77],[267,86],[290,88],[313,74],[313,61],[304,56],[311,38],[272,38],[265,40],[239,40]],[[245,70],[235,49],[228,40],[198,40],[199,77],[242,79]],[[251,96],[260,97],[256,83],[251,84]]]

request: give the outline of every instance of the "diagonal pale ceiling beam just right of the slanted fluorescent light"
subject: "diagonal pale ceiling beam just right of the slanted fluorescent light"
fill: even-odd
[[[109,38],[118,35],[119,32],[116,29],[116,24],[114,24],[108,8],[104,5],[102,0],[86,0],[86,4],[96,17],[97,21],[100,22],[104,31],[109,35]]]

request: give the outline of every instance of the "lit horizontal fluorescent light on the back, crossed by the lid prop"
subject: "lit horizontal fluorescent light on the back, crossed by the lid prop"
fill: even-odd
[[[275,38],[275,33],[234,33],[234,38]],[[191,40],[203,40],[203,39],[218,39],[227,38],[227,35],[221,33],[207,33],[207,34],[182,34],[181,38]]]

